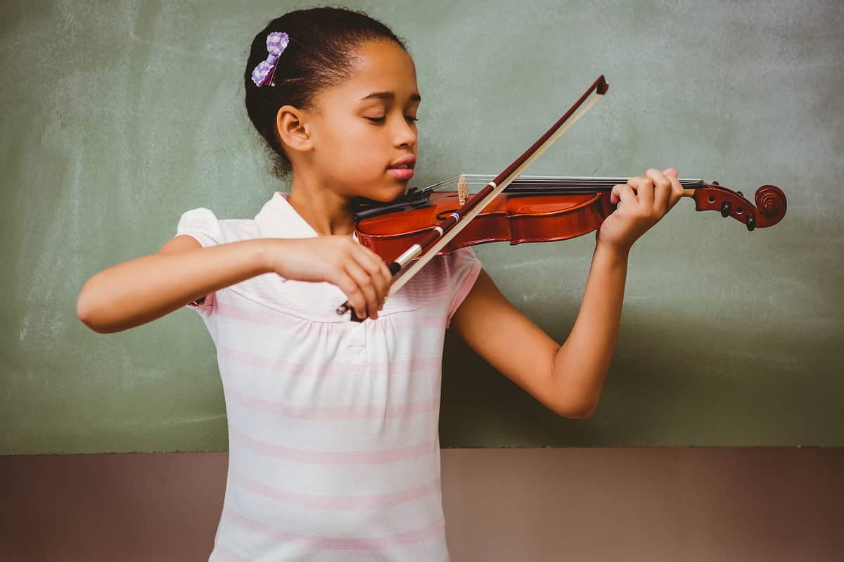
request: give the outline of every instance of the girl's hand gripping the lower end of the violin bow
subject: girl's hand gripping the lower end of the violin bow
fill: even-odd
[[[267,239],[268,267],[287,279],[337,285],[359,318],[373,320],[384,305],[392,275],[378,255],[349,236]]]

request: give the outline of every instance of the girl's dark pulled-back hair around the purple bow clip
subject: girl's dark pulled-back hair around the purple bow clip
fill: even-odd
[[[283,31],[289,45],[279,57],[269,84],[258,88],[252,69],[267,58],[267,35]],[[358,47],[365,41],[393,41],[407,46],[387,25],[363,12],[345,8],[296,10],[273,19],[255,35],[246,61],[246,113],[263,138],[273,160],[273,176],[288,178],[293,168],[276,130],[276,115],[282,105],[313,109],[317,94],[327,86],[341,84],[354,68]]]

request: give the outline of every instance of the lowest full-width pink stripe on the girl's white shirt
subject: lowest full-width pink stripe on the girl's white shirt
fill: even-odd
[[[383,550],[405,544],[419,543],[419,541],[423,541],[425,538],[436,535],[441,529],[446,527],[446,520],[441,517],[428,527],[416,531],[400,532],[395,535],[372,538],[331,538],[312,537],[284,531],[283,529],[272,527],[260,521],[253,521],[231,510],[226,510],[224,516],[241,527],[268,534],[275,539],[306,543],[311,548],[322,548],[326,550]]]

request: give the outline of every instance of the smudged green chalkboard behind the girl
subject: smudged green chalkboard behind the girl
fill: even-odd
[[[100,335],[94,273],[184,211],[252,218],[274,180],[246,120],[252,36],[299,3],[3,3],[0,453],[225,450],[193,311]],[[414,184],[498,173],[603,73],[609,94],[528,170],[683,177],[788,196],[749,233],[683,200],[630,259],[598,411],[564,419],[446,340],[443,446],[844,445],[844,4],[347,3],[408,41],[425,98]],[[478,246],[562,342],[594,238]]]

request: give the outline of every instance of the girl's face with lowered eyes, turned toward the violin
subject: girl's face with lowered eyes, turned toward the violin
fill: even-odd
[[[318,97],[319,110],[309,120],[311,162],[322,181],[344,197],[391,201],[413,176],[416,68],[392,41],[368,41],[358,52],[351,77]],[[397,170],[397,162],[411,155],[410,169]]]

